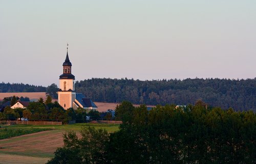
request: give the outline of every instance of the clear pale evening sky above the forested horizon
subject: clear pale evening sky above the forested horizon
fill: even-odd
[[[256,1],[0,0],[2,82],[256,77]]]

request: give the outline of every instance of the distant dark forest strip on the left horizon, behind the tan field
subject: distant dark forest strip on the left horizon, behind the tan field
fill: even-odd
[[[22,83],[0,83],[0,92],[46,92],[46,87]]]

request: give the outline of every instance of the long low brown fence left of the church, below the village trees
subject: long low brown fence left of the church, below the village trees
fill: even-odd
[[[7,123],[8,125],[23,124],[23,125],[62,125],[62,122],[54,121],[0,121],[0,124]]]

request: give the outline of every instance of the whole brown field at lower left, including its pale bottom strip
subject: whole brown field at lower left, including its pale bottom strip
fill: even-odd
[[[63,146],[63,132],[41,131],[0,140],[0,163],[45,163],[58,147]],[[16,156],[23,157],[23,161],[18,161]]]

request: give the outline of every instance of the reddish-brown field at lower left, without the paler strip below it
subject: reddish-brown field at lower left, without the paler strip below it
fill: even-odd
[[[0,140],[2,147],[0,153],[52,157],[54,151],[63,145],[62,132],[62,130],[42,131]]]

